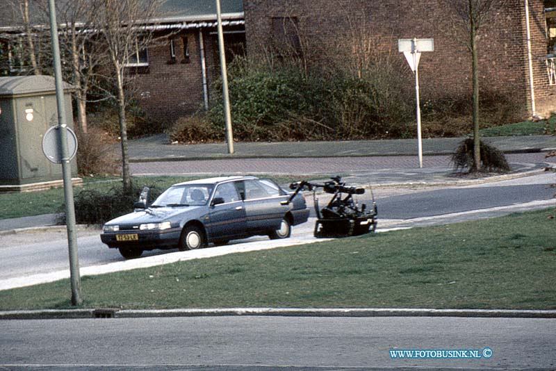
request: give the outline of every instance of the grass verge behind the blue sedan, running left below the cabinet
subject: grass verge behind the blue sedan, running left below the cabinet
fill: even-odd
[[[156,184],[158,188],[164,190],[172,186],[172,184],[182,181],[190,181],[199,179],[206,176],[136,176],[133,177],[133,182],[140,186]],[[262,176],[259,178],[272,178],[278,183],[291,183],[299,179],[320,179],[327,176],[316,175],[312,176]],[[82,187],[74,187],[74,195],[79,195],[82,190],[104,190],[108,191],[110,188],[120,186],[121,179],[116,178],[83,178]],[[64,203],[64,190],[63,188],[54,188],[39,192],[24,192],[24,193],[0,193],[0,204],[2,204],[3,213],[0,214],[0,219],[10,219],[13,217],[26,217],[42,214],[58,213],[60,206]]]

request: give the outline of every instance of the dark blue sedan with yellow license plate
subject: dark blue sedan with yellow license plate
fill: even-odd
[[[193,250],[250,236],[288,238],[309,218],[304,197],[270,179],[229,176],[174,184],[152,204],[104,224],[101,240],[124,258],[144,250]],[[289,201],[289,202],[288,202]]]

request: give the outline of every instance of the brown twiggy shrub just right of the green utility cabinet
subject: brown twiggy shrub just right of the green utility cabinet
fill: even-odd
[[[105,131],[88,128],[87,133],[76,131],[77,170],[82,176],[116,174],[119,172],[119,158],[115,149],[115,139]]]

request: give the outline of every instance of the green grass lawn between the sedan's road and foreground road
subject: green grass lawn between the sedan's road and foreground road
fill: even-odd
[[[553,210],[83,277],[85,308],[556,308]],[[0,309],[70,308],[63,280]]]

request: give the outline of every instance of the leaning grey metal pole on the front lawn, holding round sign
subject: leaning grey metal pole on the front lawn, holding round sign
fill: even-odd
[[[50,36],[52,39],[52,55],[54,56],[54,77],[56,80],[56,102],[58,104],[58,133],[60,158],[64,179],[65,219],[67,225],[67,244],[70,250],[70,281],[72,283],[72,305],[83,303],[81,299],[81,277],[79,275],[79,258],[77,254],[77,238],[75,233],[74,192],[72,188],[72,167],[67,154],[67,124],[65,122],[64,87],[62,81],[62,65],[60,63],[60,45],[58,44],[58,26],[56,24],[56,8],[54,0],[49,0]]]

